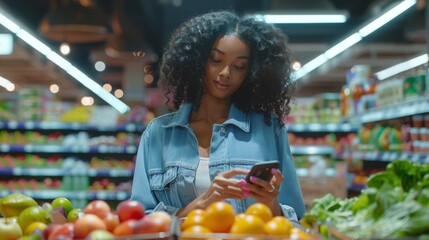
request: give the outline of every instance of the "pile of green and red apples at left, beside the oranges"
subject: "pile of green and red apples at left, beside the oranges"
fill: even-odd
[[[2,240],[120,239],[168,233],[172,225],[166,212],[146,214],[145,207],[133,200],[120,202],[116,210],[103,200],[93,200],[80,209],[64,197],[39,205],[26,195],[13,193],[0,199],[0,213]]]

